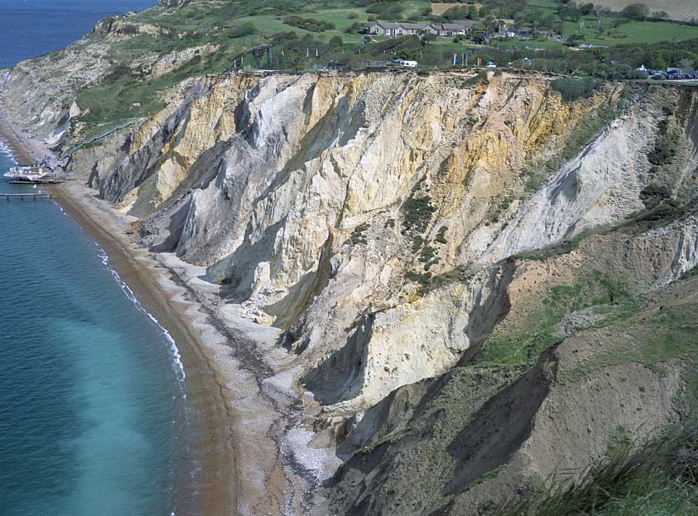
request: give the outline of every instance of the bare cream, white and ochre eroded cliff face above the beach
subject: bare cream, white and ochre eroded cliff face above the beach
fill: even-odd
[[[285,328],[304,384],[345,409],[475,356],[510,308],[510,271],[492,264],[639,210],[661,113],[643,88],[563,103],[546,78],[458,73],[228,74],[184,96],[102,195]],[[664,262],[666,282],[695,257]]]

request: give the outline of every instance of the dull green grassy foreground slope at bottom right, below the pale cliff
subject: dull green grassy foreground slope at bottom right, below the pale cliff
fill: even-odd
[[[575,388],[584,390],[588,386],[584,374],[628,361],[644,363],[659,377],[666,374],[665,367],[683,368],[684,373],[693,370],[692,363],[698,356],[698,324],[694,316],[698,310],[697,291],[698,278],[687,275],[684,280],[637,298],[637,303],[629,310],[619,312],[614,309],[614,315],[605,321],[580,331],[570,339],[564,351],[562,347],[558,348],[565,358],[558,362],[559,368],[550,388],[564,385],[572,392]],[[530,319],[534,321],[535,315]],[[347,476],[348,482],[339,483],[340,490],[333,496],[341,499],[341,496],[355,496],[361,492],[356,505],[351,507],[359,512],[384,510],[400,513],[405,510],[420,513],[424,508],[448,507],[447,504],[459,496],[470,496],[470,490],[505,472],[510,479],[503,480],[507,489],[505,492],[496,490],[489,497],[498,502],[506,499],[512,494],[512,487],[506,483],[519,474],[517,468],[521,466],[509,462],[514,451],[510,439],[516,440],[520,436],[507,434],[507,429],[522,427],[533,420],[547,399],[547,388],[542,387],[545,381],[536,373],[537,369],[540,369],[540,363],[535,365],[535,360],[528,365],[525,361],[519,361],[519,365],[510,361],[454,367],[434,380],[429,393],[421,400],[410,400],[412,403],[406,404],[405,425],[357,452],[348,462],[346,471],[340,473],[340,478]],[[686,380],[690,381],[689,378]],[[690,413],[698,409],[696,401],[695,386],[687,386],[683,398],[676,400],[676,406],[680,407],[686,420],[690,420]],[[602,409],[604,402],[597,398],[595,405],[586,408],[595,413],[595,410]],[[516,416],[519,411],[521,413]],[[510,419],[512,413],[515,417]],[[573,414],[558,413],[557,416],[563,426],[584,425],[574,419]],[[695,443],[695,427],[689,427],[688,432],[681,434],[682,441],[652,442]],[[568,433],[567,437],[574,439],[574,432]],[[632,443],[632,435],[625,437],[626,443]],[[646,445],[644,450],[656,450],[652,448],[654,444]],[[677,446],[676,450],[680,448]],[[567,491],[569,484],[557,484],[554,479],[552,485],[545,487],[541,480],[535,489],[527,485],[522,487],[520,492],[530,498],[499,508],[492,502],[482,503],[480,510],[487,514],[491,511],[530,515],[591,514],[593,510],[590,512],[588,507],[581,507],[590,500],[593,503],[595,490],[597,495],[611,494],[603,500],[608,504],[607,514],[633,514],[633,510],[649,514],[653,508],[667,508],[665,514],[688,515],[695,510],[695,485],[683,481],[673,483],[671,476],[659,475],[653,469],[658,465],[662,471],[667,471],[668,464],[664,461],[669,457],[666,453],[641,457],[625,447],[609,450],[607,458],[608,462],[597,464],[595,469],[582,476],[574,490]],[[639,459],[649,461],[642,464],[650,467],[644,469],[637,462]],[[654,460],[659,462],[652,462]],[[693,463],[694,467],[697,465]],[[615,479],[608,468],[611,473],[623,471],[623,483],[616,483],[619,479]],[[375,471],[380,471],[379,481],[369,474]],[[366,490],[355,487],[353,483],[361,483],[364,476],[371,478],[366,481]],[[482,487],[488,489],[487,485]],[[475,493],[475,499],[482,498],[482,493],[482,490]],[[690,499],[682,494],[690,495]],[[601,501],[599,498],[599,506],[602,506]],[[373,506],[374,503],[380,505]],[[551,505],[547,507],[547,503]],[[565,505],[569,510],[564,510]],[[579,512],[574,508],[579,508]],[[650,512],[642,512],[645,508]],[[678,510],[678,513],[671,512],[671,509]]]

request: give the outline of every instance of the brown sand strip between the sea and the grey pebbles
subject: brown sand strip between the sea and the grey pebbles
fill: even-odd
[[[196,514],[232,514],[237,505],[235,475],[235,415],[230,411],[223,389],[225,379],[206,356],[204,342],[194,331],[192,303],[184,300],[186,291],[168,284],[166,269],[149,253],[130,245],[126,238],[126,215],[114,217],[94,197],[94,192],[76,183],[53,185],[51,190],[62,208],[82,230],[93,238],[109,257],[109,265],[133,291],[144,310],[170,334],[184,365],[186,402],[191,409],[194,460],[202,462],[192,479],[189,467],[176,471],[174,501],[177,512]],[[215,450],[215,453],[213,453]],[[180,461],[177,462],[179,464]],[[227,479],[226,485],[221,479]],[[188,481],[187,481],[188,480]]]

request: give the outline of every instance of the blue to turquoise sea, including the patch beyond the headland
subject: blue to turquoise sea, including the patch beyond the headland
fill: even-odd
[[[0,0],[0,68],[155,3]],[[169,335],[48,199],[0,197],[0,296],[0,514],[169,514],[186,401]]]

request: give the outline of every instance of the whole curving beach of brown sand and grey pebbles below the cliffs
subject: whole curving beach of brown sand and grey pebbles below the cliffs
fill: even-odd
[[[51,154],[8,114],[0,119],[0,137],[17,162]],[[300,426],[302,406],[313,400],[297,388],[299,373],[276,344],[279,330],[255,324],[241,317],[237,305],[221,302],[205,268],[143,248],[133,231],[138,220],[114,210],[93,190],[75,181],[51,188],[179,348],[195,412],[196,453],[178,464],[177,513],[308,512],[315,487],[339,460],[305,446],[313,434]]]

